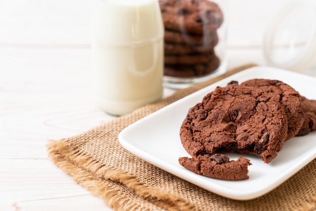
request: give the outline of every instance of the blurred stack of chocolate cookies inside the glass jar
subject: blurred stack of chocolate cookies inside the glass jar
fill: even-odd
[[[165,76],[195,77],[216,70],[214,47],[223,13],[208,0],[159,1],[165,25]]]

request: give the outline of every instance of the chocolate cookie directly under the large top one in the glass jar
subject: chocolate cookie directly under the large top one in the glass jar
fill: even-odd
[[[179,43],[188,45],[212,45],[217,43],[219,37],[217,31],[211,31],[202,35],[192,35],[178,31],[165,30],[165,41],[169,43]]]

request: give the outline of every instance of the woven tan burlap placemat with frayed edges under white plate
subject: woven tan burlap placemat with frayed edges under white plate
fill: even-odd
[[[51,160],[74,181],[115,210],[316,210],[316,160],[270,193],[248,201],[206,191],[139,159],[125,150],[118,134],[133,122],[249,64],[206,82],[178,90],[129,115],[75,137],[50,141]]]

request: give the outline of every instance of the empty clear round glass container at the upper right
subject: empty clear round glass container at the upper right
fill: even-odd
[[[316,67],[316,2],[291,0],[268,25],[264,37],[268,65],[304,72]]]

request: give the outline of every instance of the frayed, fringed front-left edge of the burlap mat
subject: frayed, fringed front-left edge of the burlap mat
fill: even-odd
[[[58,167],[115,210],[148,209],[127,197],[126,191],[131,191],[131,195],[140,196],[143,200],[154,204],[157,206],[155,210],[159,207],[167,210],[192,210],[194,207],[177,194],[149,188],[126,172],[100,165],[89,155],[78,151],[76,146],[68,145],[63,140],[51,140],[48,148],[49,157]],[[124,194],[122,194],[122,190],[124,190]]]

